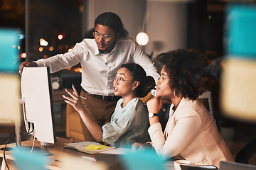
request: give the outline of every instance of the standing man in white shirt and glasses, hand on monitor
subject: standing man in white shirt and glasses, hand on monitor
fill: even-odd
[[[132,38],[128,37],[119,16],[106,12],[95,19],[95,30],[92,33],[95,39],[85,38],[75,45],[73,50],[65,54],[55,55],[48,59],[36,62],[23,62],[23,67],[50,67],[50,72],[72,67],[80,63],[82,67],[82,91],[80,96],[88,98],[83,100],[87,111],[100,125],[110,122],[118,96],[114,96],[114,76],[125,63],[140,64],[155,80],[159,78],[154,64],[142,51],[142,48]],[[94,138],[83,125],[85,140]]]

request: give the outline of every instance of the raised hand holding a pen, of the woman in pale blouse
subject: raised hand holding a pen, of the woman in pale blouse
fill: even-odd
[[[68,89],[65,89],[65,91],[71,96],[71,97],[68,97],[68,96],[64,96],[63,95],[63,98],[65,98],[65,103],[69,103],[70,105],[73,106],[73,108],[75,108],[76,111],[80,112],[84,109],[84,107],[82,106],[82,101],[81,101],[81,98],[78,94],[78,91],[75,89],[75,86],[72,85],[72,88],[73,88],[73,91],[70,92],[68,91]]]

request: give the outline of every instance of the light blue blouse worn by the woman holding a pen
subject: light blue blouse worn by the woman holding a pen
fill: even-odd
[[[114,147],[130,148],[134,142],[149,141],[149,114],[139,98],[133,98],[122,108],[122,98],[117,101],[110,123],[102,126],[102,141]]]

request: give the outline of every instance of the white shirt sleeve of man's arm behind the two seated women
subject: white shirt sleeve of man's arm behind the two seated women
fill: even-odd
[[[135,42],[135,51],[134,51],[134,62],[141,65],[145,71],[147,76],[151,76],[157,81],[159,79],[159,74],[157,73],[156,67],[154,67],[154,63],[150,60],[150,58],[143,52],[142,47],[140,47],[137,42]]]

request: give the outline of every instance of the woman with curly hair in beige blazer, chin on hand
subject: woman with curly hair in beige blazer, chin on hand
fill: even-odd
[[[218,131],[213,115],[198,100],[210,77],[208,61],[197,50],[174,50],[157,57],[164,64],[157,81],[156,97],[146,103],[149,110],[150,144],[166,158],[181,157],[195,165],[215,165],[233,161]],[[171,100],[169,120],[163,131],[159,123],[162,98]],[[133,149],[144,147],[136,143]]]

